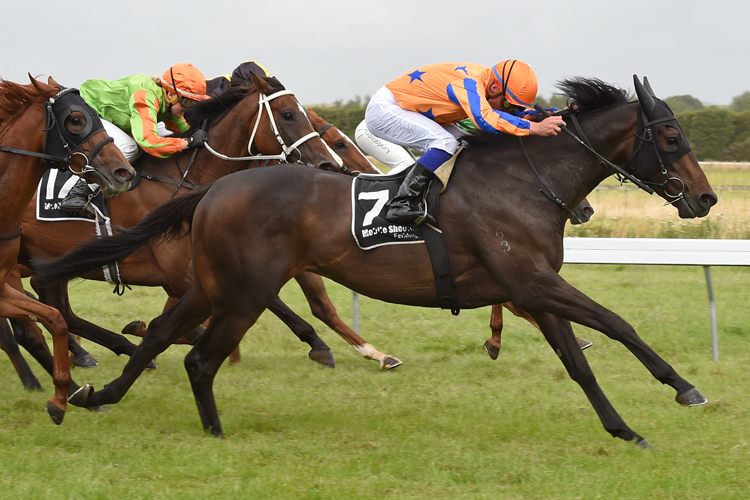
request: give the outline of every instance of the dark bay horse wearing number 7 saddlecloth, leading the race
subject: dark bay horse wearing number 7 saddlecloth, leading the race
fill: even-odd
[[[636,102],[597,79],[561,82],[573,104],[563,115],[568,129],[576,131],[572,136],[471,139],[442,195],[439,220],[457,307],[510,300],[527,311],[605,430],[648,447],[602,392],[571,322],[623,343],[657,380],[675,389],[678,403],[701,405],[706,398],[630,324],[559,275],[566,207],[579,204],[613,172],[658,193],[682,218],[703,217],[717,202],[672,111],[650,86],[634,80]],[[123,374],[90,393],[87,404],[119,401],[155,355],[211,316],[185,367],[204,428],[222,435],[213,394],[216,372],[281,287],[302,271],[386,302],[439,307],[424,245],[370,251],[357,246],[351,210],[343,208],[349,206],[352,182],[296,167],[239,172],[162,205],[114,238],[37,263],[40,283],[64,281],[165,235],[174,237],[185,222],[191,225],[194,287],[151,322]]]

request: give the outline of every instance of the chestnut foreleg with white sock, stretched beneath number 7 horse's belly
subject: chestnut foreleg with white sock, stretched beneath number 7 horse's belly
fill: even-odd
[[[336,308],[328,296],[323,278],[317,274],[301,273],[294,277],[299,283],[302,292],[310,304],[310,310],[313,316],[328,325],[333,331],[338,333],[349,344],[354,347],[365,359],[374,359],[380,363],[382,370],[389,370],[401,365],[402,361],[389,354],[383,354],[365,339],[349,328],[346,323],[339,318]]]

